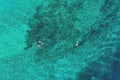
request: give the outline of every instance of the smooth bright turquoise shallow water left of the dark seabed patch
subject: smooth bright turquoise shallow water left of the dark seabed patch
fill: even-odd
[[[22,53],[28,18],[37,4],[30,0],[0,0],[0,58]]]

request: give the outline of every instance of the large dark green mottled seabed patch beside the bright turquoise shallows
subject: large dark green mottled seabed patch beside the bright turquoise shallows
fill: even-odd
[[[31,45],[38,42],[39,39],[52,46],[58,42],[58,39],[62,40],[66,38],[67,34],[70,35],[71,32],[68,29],[73,26],[77,19],[74,12],[81,9],[79,5],[83,4],[81,1],[75,3],[69,5],[67,1],[53,1],[47,7],[38,5],[35,14],[28,22],[30,30],[27,31],[26,36],[27,48],[32,47]]]

